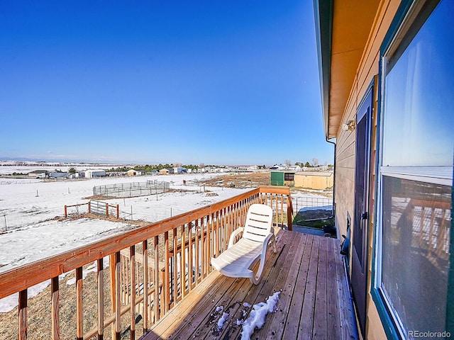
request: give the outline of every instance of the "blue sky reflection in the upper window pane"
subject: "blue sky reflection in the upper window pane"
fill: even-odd
[[[402,55],[389,57],[384,166],[452,165],[453,17],[454,1],[441,1]]]

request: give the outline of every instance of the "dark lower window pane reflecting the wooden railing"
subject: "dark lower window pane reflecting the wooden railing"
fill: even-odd
[[[383,178],[382,288],[406,333],[445,331],[451,186]]]

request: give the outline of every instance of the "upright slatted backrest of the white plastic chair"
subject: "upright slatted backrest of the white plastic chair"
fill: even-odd
[[[243,237],[264,242],[271,232],[272,208],[269,205],[253,204],[249,207]]]

